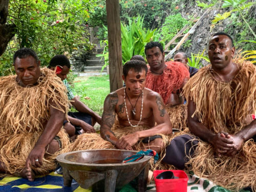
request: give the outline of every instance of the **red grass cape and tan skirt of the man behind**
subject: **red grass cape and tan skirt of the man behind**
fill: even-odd
[[[187,105],[170,106],[168,105],[168,99],[170,94],[177,94],[180,91],[184,79],[189,78],[189,72],[180,62],[168,61],[165,62],[165,65],[166,68],[161,75],[154,74],[148,69],[145,87],[161,95],[164,104],[167,104],[166,110],[169,114],[172,127],[182,130],[186,127]]]

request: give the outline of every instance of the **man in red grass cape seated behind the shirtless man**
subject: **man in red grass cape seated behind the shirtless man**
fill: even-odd
[[[161,95],[169,114],[172,127],[183,130],[186,127],[187,105],[180,95],[189,79],[186,67],[175,61],[164,61],[163,47],[159,42],[148,42],[145,46],[148,65],[145,87]]]

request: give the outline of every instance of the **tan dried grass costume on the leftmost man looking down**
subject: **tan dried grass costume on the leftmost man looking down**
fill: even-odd
[[[13,174],[21,172],[39,136],[43,123],[50,118],[50,100],[55,109],[68,110],[66,88],[53,71],[42,68],[36,86],[25,88],[18,85],[16,75],[0,79],[0,161]],[[62,109],[63,108],[63,109]],[[66,112],[63,111],[63,112]],[[58,133],[62,148],[69,144],[64,129]],[[47,174],[55,168],[59,154],[47,154],[40,168],[32,167],[36,174]]]

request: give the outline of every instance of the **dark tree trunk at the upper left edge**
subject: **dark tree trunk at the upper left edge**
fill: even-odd
[[[15,25],[6,25],[8,17],[9,0],[1,0],[0,2],[0,56],[5,52],[8,42],[15,35]]]

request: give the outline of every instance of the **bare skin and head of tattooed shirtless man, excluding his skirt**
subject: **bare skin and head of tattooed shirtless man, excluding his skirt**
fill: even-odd
[[[172,134],[169,117],[161,96],[145,88],[146,73],[147,66],[144,62],[140,60],[126,62],[122,76],[126,87],[110,93],[105,99],[100,135],[114,144],[116,148],[132,150],[140,139],[157,134]],[[119,139],[115,136],[115,133],[111,131],[115,122],[115,113],[118,116],[119,125],[134,127],[133,133],[125,134]],[[155,123],[157,123],[156,126]],[[137,131],[139,125],[148,128]],[[160,153],[162,145],[160,137],[148,142],[148,147],[157,153]]]

